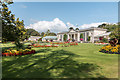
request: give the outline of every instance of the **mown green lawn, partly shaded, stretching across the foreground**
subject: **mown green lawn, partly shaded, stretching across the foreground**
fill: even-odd
[[[25,44],[27,45],[27,44]],[[7,43],[1,45],[14,47]],[[36,54],[2,57],[3,78],[118,78],[118,55],[99,52],[102,46],[34,48]]]

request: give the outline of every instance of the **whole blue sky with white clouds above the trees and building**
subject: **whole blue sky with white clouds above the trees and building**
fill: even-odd
[[[67,31],[97,27],[102,23],[118,22],[117,2],[14,2],[9,5],[16,18],[24,20],[26,28],[38,32]]]

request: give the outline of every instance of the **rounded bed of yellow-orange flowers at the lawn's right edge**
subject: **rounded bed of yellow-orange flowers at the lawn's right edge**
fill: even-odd
[[[107,45],[102,47],[99,51],[103,53],[110,53],[110,54],[120,54],[120,45],[116,45],[115,47],[111,45]]]

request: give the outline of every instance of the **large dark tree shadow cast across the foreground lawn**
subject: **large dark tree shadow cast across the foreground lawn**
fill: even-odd
[[[50,49],[38,52],[47,52]],[[17,57],[3,62],[3,78],[92,78],[91,71],[99,66],[90,63],[78,63],[73,60],[74,53],[65,50],[51,51],[44,58],[39,55]],[[98,74],[98,77],[103,77]]]

